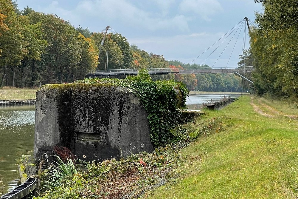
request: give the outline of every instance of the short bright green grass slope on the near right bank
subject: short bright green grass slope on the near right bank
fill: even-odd
[[[225,119],[225,130],[183,149],[183,155],[200,160],[185,168],[187,178],[160,187],[150,198],[294,198],[293,191],[297,195],[297,120],[260,115],[249,97],[207,115],[231,119]]]

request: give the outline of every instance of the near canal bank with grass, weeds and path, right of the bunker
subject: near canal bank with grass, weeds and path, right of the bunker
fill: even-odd
[[[271,116],[263,115],[262,103],[244,97],[221,111],[207,110],[193,126],[193,136],[200,136],[190,146],[174,151],[167,146],[162,154],[89,164],[85,174],[79,171],[73,181],[43,198],[62,198],[62,194],[64,198],[139,198],[144,192],[144,198],[294,198],[298,121],[274,107],[268,109],[269,105],[266,110]],[[161,162],[170,163],[160,169],[170,171],[163,173],[167,178],[161,181],[154,175],[148,180],[153,176],[150,169]],[[123,176],[127,168],[137,169]],[[131,190],[132,186],[136,189]]]

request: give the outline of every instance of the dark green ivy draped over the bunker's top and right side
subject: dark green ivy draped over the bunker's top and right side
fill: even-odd
[[[92,78],[78,80],[77,83],[112,84],[128,88],[139,97],[148,113],[150,138],[155,146],[173,141],[173,129],[183,123],[179,108],[185,107],[188,90],[182,82],[152,81],[148,71],[141,69],[137,76],[125,79]]]

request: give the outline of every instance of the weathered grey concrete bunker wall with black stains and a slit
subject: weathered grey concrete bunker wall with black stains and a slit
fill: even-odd
[[[147,113],[125,88],[50,84],[37,91],[35,158],[49,158],[55,145],[87,161],[152,151],[149,131]]]

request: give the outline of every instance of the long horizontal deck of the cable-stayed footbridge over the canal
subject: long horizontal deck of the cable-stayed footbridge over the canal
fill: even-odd
[[[137,75],[140,69],[119,69],[119,70],[96,70],[95,73],[88,73],[86,77],[97,76],[116,76],[116,75]],[[167,74],[205,74],[205,73],[249,73],[254,71],[253,67],[238,68],[149,68],[147,69],[150,75],[167,75]]]

